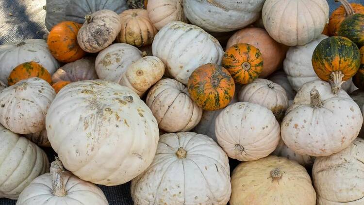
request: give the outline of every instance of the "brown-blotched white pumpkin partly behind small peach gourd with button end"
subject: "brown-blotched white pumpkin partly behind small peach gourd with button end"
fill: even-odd
[[[115,43],[99,52],[95,61],[96,72],[100,79],[118,83],[127,68],[142,57],[136,47]]]

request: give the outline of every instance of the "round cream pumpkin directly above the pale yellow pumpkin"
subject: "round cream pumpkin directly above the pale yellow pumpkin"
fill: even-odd
[[[280,125],[267,108],[250,102],[235,102],[217,116],[217,142],[226,154],[251,161],[271,154],[280,140]]]

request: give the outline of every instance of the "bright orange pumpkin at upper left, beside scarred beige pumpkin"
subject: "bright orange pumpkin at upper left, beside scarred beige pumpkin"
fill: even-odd
[[[77,34],[81,26],[73,21],[63,21],[52,28],[47,44],[54,58],[69,63],[81,59],[86,54],[77,42]]]

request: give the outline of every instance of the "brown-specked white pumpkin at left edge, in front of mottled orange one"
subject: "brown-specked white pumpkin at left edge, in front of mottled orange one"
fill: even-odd
[[[18,134],[42,131],[55,95],[52,86],[40,78],[22,80],[3,89],[0,92],[0,123]]]

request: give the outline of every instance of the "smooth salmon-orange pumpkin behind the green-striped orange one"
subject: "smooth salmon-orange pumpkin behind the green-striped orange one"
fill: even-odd
[[[230,37],[226,44],[226,50],[237,43],[247,43],[259,49],[262,53],[264,67],[259,75],[266,78],[277,70],[284,59],[286,48],[277,43],[269,34],[261,28],[245,28],[237,31]]]

